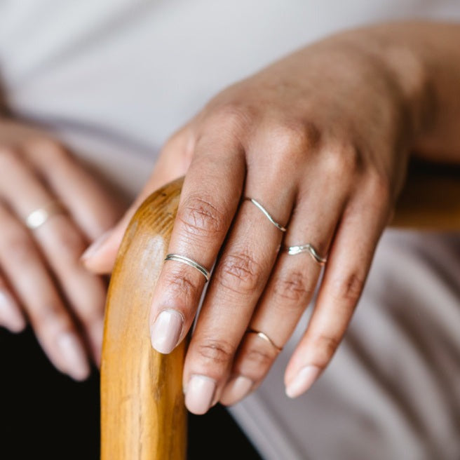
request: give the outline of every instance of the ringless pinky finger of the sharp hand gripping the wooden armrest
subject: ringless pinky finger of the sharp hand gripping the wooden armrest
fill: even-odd
[[[285,372],[290,398],[297,398],[318,379],[344,337],[388,215],[389,210],[377,210],[367,197],[351,203],[345,212],[309,326]]]

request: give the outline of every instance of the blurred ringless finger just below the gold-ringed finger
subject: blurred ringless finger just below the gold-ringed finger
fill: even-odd
[[[61,372],[77,380],[90,372],[86,352],[27,230],[0,206],[0,265],[24,306],[43,350]]]

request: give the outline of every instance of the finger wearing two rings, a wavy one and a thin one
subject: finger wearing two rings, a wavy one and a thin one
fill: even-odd
[[[322,197],[322,207],[314,204]],[[307,194],[293,213],[284,247],[311,243],[320,255],[327,255],[335,224],[344,208],[343,190],[331,194],[327,184]],[[249,329],[263,332],[269,340],[245,334],[236,353],[228,383],[220,402],[232,405],[257,388],[278,356],[311,301],[321,266],[311,255],[288,255],[282,250],[269,283],[259,299]],[[245,382],[245,385],[242,384]]]

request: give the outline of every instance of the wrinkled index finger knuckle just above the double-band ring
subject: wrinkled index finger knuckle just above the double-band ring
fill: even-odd
[[[177,219],[184,224],[187,233],[195,236],[215,236],[224,231],[224,216],[203,198],[187,199],[177,212]]]

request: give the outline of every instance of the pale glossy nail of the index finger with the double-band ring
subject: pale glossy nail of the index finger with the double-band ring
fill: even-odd
[[[160,353],[170,353],[179,341],[184,318],[176,310],[163,310],[151,327],[151,346]]]

